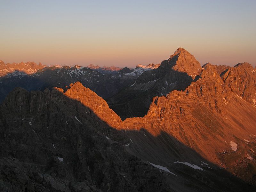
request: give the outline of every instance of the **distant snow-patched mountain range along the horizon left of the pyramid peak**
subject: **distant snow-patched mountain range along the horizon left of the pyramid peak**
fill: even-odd
[[[159,65],[138,65],[135,69],[103,67],[89,65],[81,66],[43,66],[34,62],[5,64],[0,61],[0,90],[2,101],[15,87],[19,86],[27,90],[44,90],[60,86],[65,88],[67,84],[81,82],[103,98],[116,94],[119,90],[140,76],[143,72],[157,68]]]

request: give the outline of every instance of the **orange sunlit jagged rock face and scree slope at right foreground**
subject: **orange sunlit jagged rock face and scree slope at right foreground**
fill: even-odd
[[[229,86],[220,77],[217,66],[208,63],[184,91],[155,97],[146,116],[128,118],[124,124],[155,137],[166,138],[163,133],[171,135],[171,141],[161,139],[165,141],[156,143],[157,147],[138,142],[141,151],[150,151],[151,158],[161,159],[168,168],[172,162],[188,162],[188,159],[190,164],[204,162],[188,152],[184,148],[187,146],[201,158],[255,185],[256,109]]]

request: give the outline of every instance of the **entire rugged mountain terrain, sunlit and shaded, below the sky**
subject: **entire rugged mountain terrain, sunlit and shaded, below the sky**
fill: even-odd
[[[0,61],[0,191],[256,191],[256,68]]]

